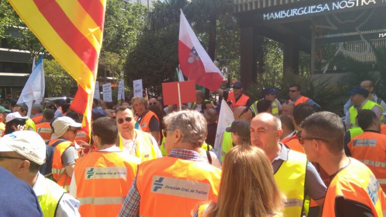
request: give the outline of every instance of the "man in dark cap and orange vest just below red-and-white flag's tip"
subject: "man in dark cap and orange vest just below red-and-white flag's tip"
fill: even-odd
[[[240,81],[236,81],[233,86],[233,91],[228,92],[221,88],[216,90],[221,96],[224,97],[225,101],[231,103],[232,111],[239,106],[251,106],[250,98],[243,93],[243,84]]]

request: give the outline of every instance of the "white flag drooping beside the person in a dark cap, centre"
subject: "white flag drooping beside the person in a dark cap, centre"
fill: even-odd
[[[216,131],[216,140],[215,140],[215,146],[213,147],[213,152],[216,153],[217,158],[221,159],[221,151],[222,151],[222,143],[223,140],[221,139],[225,129],[232,124],[232,122],[235,120],[233,117],[233,112],[231,108],[228,106],[227,102],[223,99],[221,101],[221,110],[220,110],[220,116],[219,116],[219,123],[217,124],[217,131]]]

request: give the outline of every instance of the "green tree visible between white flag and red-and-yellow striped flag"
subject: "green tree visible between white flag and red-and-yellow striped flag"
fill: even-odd
[[[52,96],[69,95],[71,88],[76,87],[75,80],[55,60],[44,60],[45,92]]]

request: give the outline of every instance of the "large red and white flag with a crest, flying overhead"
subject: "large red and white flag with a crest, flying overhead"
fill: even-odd
[[[200,44],[182,10],[179,21],[178,58],[179,67],[187,78],[195,80],[197,84],[212,92],[220,87],[223,74]]]

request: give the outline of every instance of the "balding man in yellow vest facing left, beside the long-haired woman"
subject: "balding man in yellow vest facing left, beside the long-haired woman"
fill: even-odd
[[[283,215],[303,216],[302,212],[309,208],[307,196],[322,207],[327,187],[305,154],[290,150],[279,142],[280,120],[268,113],[258,114],[252,119],[250,133],[251,144],[264,150],[272,163],[276,183],[287,197]],[[308,216],[316,215],[309,213]]]

